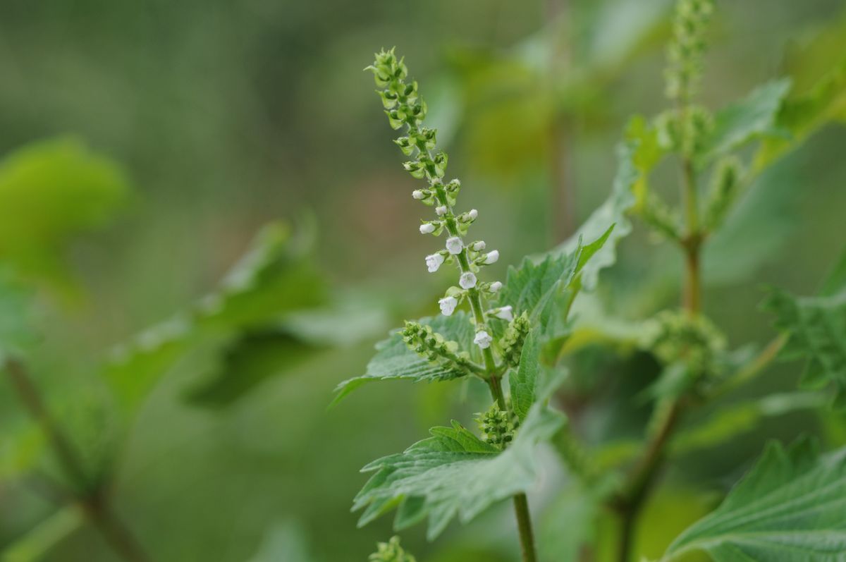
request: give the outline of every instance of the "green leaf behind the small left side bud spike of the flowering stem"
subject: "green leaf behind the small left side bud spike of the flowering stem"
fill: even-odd
[[[458,342],[462,350],[472,350],[475,347],[473,324],[464,311],[456,311],[448,317],[441,315],[421,318],[418,322],[431,326],[432,330],[440,333],[444,339]],[[432,363],[426,357],[421,357],[413,350],[409,350],[400,331],[395,330],[388,339],[376,344],[376,355],[367,363],[364,375],[349,378],[338,384],[335,388],[338,394],[332,400],[332,405],[338,404],[356,388],[375,381],[409,379],[415,383],[420,381],[431,383],[452,380],[463,377],[464,374],[466,374],[464,371]]]

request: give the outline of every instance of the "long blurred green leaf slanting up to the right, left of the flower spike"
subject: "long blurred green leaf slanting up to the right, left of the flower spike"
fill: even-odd
[[[282,224],[265,227],[216,293],[118,348],[105,376],[124,408],[135,410],[158,379],[195,347],[210,341],[232,344],[241,331],[276,326],[286,313],[320,304],[324,287],[307,250],[290,240]],[[243,359],[232,353],[230,358]],[[237,372],[226,374],[239,377]],[[250,377],[226,388],[240,395],[250,386],[247,380],[258,383],[264,378],[256,377],[255,371]],[[222,392],[221,388],[212,393],[217,403]]]

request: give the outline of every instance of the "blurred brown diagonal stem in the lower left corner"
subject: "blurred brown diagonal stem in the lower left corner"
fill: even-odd
[[[50,410],[47,409],[35,383],[30,379],[25,366],[19,361],[7,360],[3,371],[8,373],[9,380],[18,393],[30,416],[41,426],[41,431],[47,436],[47,442],[52,447],[59,464],[72,481],[78,484],[85,482],[85,470],[79,457],[74,452],[68,438],[59,429]],[[149,562],[140,543],[135,539],[129,528],[124,525],[109,505],[107,497],[102,493],[102,487],[89,493],[74,490],[71,494],[76,503],[85,512],[91,524],[101,533],[102,537],[113,548],[118,556],[127,562]]]

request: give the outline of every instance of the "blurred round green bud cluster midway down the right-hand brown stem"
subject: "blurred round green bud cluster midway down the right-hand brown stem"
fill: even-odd
[[[644,346],[664,364],[684,361],[691,372],[715,375],[726,338],[711,320],[686,311],[662,311],[653,320]]]

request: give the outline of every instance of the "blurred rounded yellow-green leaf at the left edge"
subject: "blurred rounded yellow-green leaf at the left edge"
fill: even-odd
[[[0,161],[0,259],[65,284],[70,236],[106,225],[124,202],[124,171],[81,141],[40,141]]]

